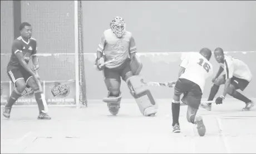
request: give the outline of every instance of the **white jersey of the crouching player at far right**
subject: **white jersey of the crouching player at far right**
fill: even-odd
[[[252,80],[252,73],[249,67],[244,62],[232,56],[225,55],[224,63],[220,63],[220,66],[224,68],[227,78],[237,77],[250,82]]]

